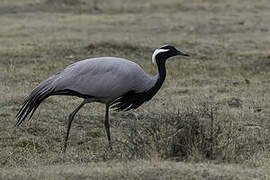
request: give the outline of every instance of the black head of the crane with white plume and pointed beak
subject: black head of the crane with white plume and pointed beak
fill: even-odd
[[[152,55],[152,62],[154,64],[159,64],[159,63],[165,63],[165,61],[173,56],[189,56],[188,54],[181,52],[177,50],[175,47],[171,45],[164,45],[161,46],[160,48],[156,49]]]

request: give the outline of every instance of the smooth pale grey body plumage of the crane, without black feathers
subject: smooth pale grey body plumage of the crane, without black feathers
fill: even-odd
[[[155,79],[132,61],[101,57],[68,66],[54,76],[51,85],[55,91],[69,89],[109,103],[131,90],[146,91],[154,85]]]

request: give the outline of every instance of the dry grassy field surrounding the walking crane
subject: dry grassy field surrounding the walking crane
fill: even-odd
[[[270,179],[268,0],[1,0],[0,179]],[[167,63],[158,94],[135,111],[50,97],[15,128],[24,98],[76,61],[116,56],[151,74],[155,48],[189,53]]]

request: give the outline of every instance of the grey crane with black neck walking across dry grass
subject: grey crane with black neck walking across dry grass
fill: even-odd
[[[99,57],[78,61],[67,66],[41,82],[25,99],[17,113],[16,126],[28,116],[29,119],[40,103],[53,95],[77,96],[82,103],[69,115],[63,151],[65,152],[72,120],[86,104],[100,102],[106,105],[105,130],[111,144],[109,109],[118,111],[136,109],[149,101],[162,86],[166,77],[166,60],[186,53],[171,45],[156,49],[152,62],[157,65],[158,73],[151,77],[136,63],[116,57]]]

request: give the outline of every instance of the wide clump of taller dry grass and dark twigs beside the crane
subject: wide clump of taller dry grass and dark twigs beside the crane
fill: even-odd
[[[192,104],[181,110],[175,107],[177,111],[149,113],[122,122],[123,139],[116,139],[114,151],[109,150],[106,157],[121,154],[120,158],[127,159],[158,156],[193,162],[242,163],[265,151],[269,143],[266,129],[247,128],[239,123],[244,119],[236,119],[232,110],[224,114],[227,104],[209,99]]]

